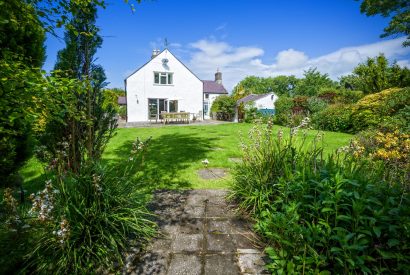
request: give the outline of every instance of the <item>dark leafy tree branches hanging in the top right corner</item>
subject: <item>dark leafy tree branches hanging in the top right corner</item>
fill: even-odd
[[[404,34],[407,39],[403,42],[403,46],[410,46],[409,0],[363,0],[360,11],[367,16],[380,14],[384,17],[391,17],[381,37]]]

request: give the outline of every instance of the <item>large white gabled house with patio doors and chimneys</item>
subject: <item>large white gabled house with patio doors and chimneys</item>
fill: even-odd
[[[161,118],[161,112],[187,112],[209,118],[213,99],[227,94],[222,74],[202,81],[168,49],[154,50],[146,64],[125,79],[127,122]]]

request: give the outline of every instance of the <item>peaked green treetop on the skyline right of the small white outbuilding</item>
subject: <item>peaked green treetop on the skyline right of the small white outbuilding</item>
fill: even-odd
[[[305,71],[303,76],[296,84],[295,95],[315,96],[321,88],[335,86],[328,74],[321,74],[316,68]]]

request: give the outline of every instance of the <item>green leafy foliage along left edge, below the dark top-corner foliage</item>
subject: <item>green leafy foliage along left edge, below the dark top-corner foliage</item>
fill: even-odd
[[[28,67],[24,57],[10,55],[0,59],[1,185],[31,154],[31,125],[41,95],[36,85],[39,79],[39,70]]]

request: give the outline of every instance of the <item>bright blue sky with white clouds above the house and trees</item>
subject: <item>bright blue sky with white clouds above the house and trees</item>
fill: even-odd
[[[132,13],[124,1],[109,0],[97,20],[104,39],[97,63],[109,87],[123,87],[167,38],[201,79],[213,79],[219,68],[228,90],[247,75],[301,76],[309,67],[337,79],[380,52],[409,66],[404,38],[379,37],[388,18],[367,17],[359,6],[354,0],[153,0]],[[48,38],[46,70],[62,47],[61,39]]]

